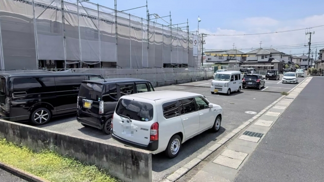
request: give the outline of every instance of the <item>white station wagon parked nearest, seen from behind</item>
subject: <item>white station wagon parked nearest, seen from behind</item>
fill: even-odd
[[[160,91],[123,96],[111,125],[112,139],[127,146],[165,152],[170,158],[195,135],[220,130],[221,106],[204,96],[179,91]]]

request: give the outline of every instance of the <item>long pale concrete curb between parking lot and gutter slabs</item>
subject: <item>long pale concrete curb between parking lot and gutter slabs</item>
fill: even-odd
[[[303,81],[301,81],[300,83],[298,83],[294,88],[292,88],[288,93],[290,93],[292,90],[294,90],[300,84],[302,84],[307,78],[308,78],[308,76],[305,77],[305,79]],[[186,86],[190,86],[190,85],[186,85]],[[174,181],[178,180],[180,177],[182,177],[184,174],[186,174],[189,170],[191,170],[193,167],[195,167],[196,165],[198,165],[201,161],[203,161],[204,159],[206,159],[210,154],[212,154],[213,152],[215,152],[218,148],[220,148],[221,146],[225,145],[238,132],[240,132],[241,130],[244,130],[247,126],[250,126],[251,124],[253,124],[254,123],[253,121],[256,121],[257,118],[261,117],[266,111],[268,111],[270,108],[272,108],[273,105],[275,105],[276,103],[280,102],[285,97],[286,96],[281,96],[279,99],[275,100],[273,103],[271,103],[268,107],[264,108],[257,115],[255,115],[254,117],[252,117],[251,119],[249,119],[245,123],[243,123],[240,126],[238,126],[237,128],[235,128],[229,134],[227,134],[226,136],[224,136],[223,138],[221,138],[216,144],[214,144],[214,146],[212,146],[211,148],[207,149],[206,151],[204,151],[203,153],[201,153],[200,155],[198,155],[196,158],[192,159],[190,162],[188,162],[187,164],[185,164],[180,169],[176,170],[174,173],[170,174],[166,179],[163,180],[163,182],[174,182]]]

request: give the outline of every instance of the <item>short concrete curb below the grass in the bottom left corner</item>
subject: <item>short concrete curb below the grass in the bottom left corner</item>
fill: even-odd
[[[43,179],[41,177],[38,177],[38,176],[35,176],[29,172],[26,172],[26,171],[23,171],[23,170],[20,170],[18,168],[15,168],[11,165],[8,165],[8,164],[4,164],[2,162],[0,162],[0,168],[18,176],[18,177],[21,177],[23,179],[28,179],[29,181],[33,181],[33,182],[50,182],[49,180],[46,180],[46,179]]]

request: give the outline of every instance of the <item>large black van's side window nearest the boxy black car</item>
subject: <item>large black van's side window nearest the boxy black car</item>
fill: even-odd
[[[85,76],[56,76],[56,91],[78,90],[84,80],[86,80]]]

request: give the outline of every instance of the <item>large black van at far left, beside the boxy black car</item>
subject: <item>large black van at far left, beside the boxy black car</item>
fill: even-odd
[[[0,118],[42,125],[52,116],[76,111],[83,80],[102,79],[95,74],[1,73]]]

